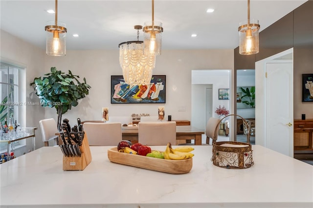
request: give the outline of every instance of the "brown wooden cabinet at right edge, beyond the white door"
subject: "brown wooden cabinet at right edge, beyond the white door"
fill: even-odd
[[[293,148],[295,158],[300,154],[313,157],[313,119],[294,120]]]

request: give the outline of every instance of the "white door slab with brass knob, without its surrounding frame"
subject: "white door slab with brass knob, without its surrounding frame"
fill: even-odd
[[[266,146],[293,157],[292,61],[268,62],[266,73]]]

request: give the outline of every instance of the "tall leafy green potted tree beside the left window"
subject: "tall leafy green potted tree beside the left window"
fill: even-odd
[[[73,75],[70,70],[68,74],[58,71],[56,67],[51,67],[51,72],[45,77],[35,78],[36,95],[40,99],[42,106],[55,107],[58,114],[58,129],[61,130],[62,115],[78,105],[78,100],[85,98],[89,94],[91,86],[78,81],[79,76]]]

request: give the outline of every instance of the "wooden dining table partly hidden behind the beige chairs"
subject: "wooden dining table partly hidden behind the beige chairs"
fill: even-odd
[[[201,145],[201,138],[204,131],[192,125],[177,125],[176,140],[185,140],[190,143],[194,141],[195,145]],[[122,126],[123,140],[131,141],[133,144],[138,142],[138,126]]]

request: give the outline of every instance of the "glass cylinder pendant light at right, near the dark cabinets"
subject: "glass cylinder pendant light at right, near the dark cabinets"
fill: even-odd
[[[259,29],[258,20],[250,20],[250,0],[248,0],[248,20],[241,22],[239,31],[239,53],[250,55],[259,53]]]

